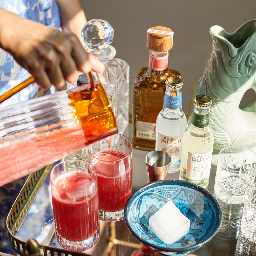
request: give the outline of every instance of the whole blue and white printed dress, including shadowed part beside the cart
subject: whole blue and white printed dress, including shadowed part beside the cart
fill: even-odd
[[[0,8],[49,27],[61,29],[60,13],[55,0],[0,0]],[[28,71],[21,68],[12,55],[0,49],[0,95],[20,84],[29,76],[31,75]],[[38,85],[33,83],[1,103],[0,108],[32,99],[38,90]],[[16,254],[9,242],[6,217],[26,178],[0,187],[0,252]]]

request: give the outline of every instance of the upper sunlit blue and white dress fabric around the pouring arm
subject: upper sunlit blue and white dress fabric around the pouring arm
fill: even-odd
[[[59,9],[55,0],[0,0],[0,8],[51,28],[61,28]],[[0,95],[20,84],[29,76],[31,76],[29,72],[20,67],[11,54],[0,49]],[[33,83],[1,103],[0,108],[32,99],[38,90],[39,86]],[[55,88],[52,86],[51,92],[54,90]]]

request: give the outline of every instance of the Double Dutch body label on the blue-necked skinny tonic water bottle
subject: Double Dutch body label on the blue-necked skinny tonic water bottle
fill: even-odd
[[[171,156],[170,165],[176,166],[181,162],[183,136],[184,134],[173,137],[164,136],[157,131],[156,150],[164,151]]]

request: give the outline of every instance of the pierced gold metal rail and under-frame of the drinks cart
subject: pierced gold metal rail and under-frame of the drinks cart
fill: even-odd
[[[24,222],[29,209],[31,208],[36,196],[44,184],[46,177],[52,169],[52,165],[47,165],[45,168],[32,172],[22,187],[18,197],[16,198],[10,212],[7,215],[6,226],[8,230],[10,244],[12,249],[19,255],[27,255],[25,250],[26,241],[20,240],[15,237],[15,234],[20,230],[22,223]],[[100,223],[100,229],[103,231],[106,228],[107,222]],[[140,244],[122,241],[116,239],[116,223],[108,222],[109,225],[109,236],[108,243],[105,246],[103,255],[115,255],[116,244],[128,246],[132,248],[140,248]],[[91,255],[87,254],[91,252],[91,249],[84,252],[71,252],[65,249],[59,249],[44,244],[40,244],[41,255]]]

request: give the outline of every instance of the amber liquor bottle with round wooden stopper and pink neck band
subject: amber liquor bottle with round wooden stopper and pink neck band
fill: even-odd
[[[173,31],[166,27],[152,27],[147,31],[148,67],[141,68],[133,84],[133,146],[136,149],[155,148],[156,118],[164,101],[165,81],[178,76],[168,69],[168,51],[172,48]]]

